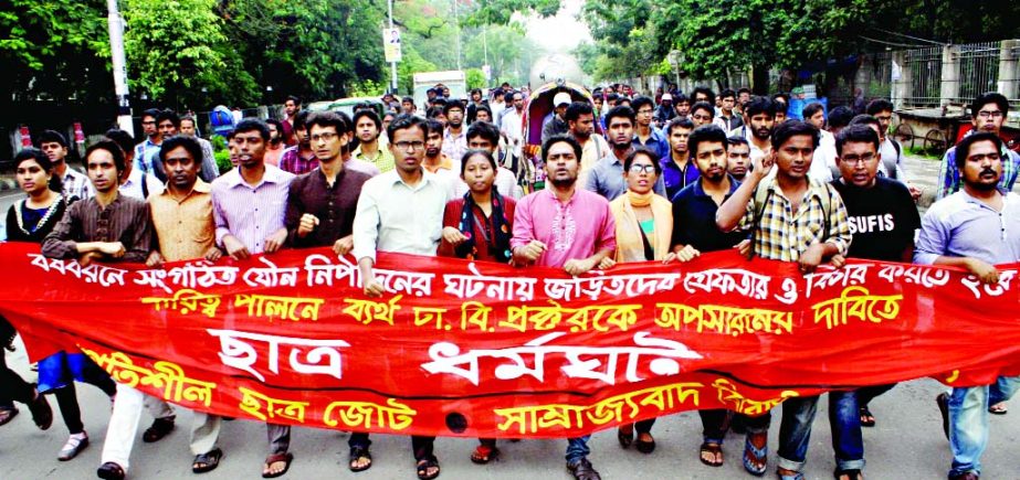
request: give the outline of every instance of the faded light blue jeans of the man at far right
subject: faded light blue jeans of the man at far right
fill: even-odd
[[[991,386],[953,388],[949,393],[949,477],[981,474],[981,454],[988,446],[988,406],[1008,401],[1020,388],[1020,376],[1000,376]]]

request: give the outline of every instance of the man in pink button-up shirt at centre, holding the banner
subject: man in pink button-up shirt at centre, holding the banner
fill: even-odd
[[[562,268],[572,276],[613,265],[616,222],[609,202],[577,188],[581,146],[574,137],[549,137],[541,146],[550,188],[532,193],[517,204],[511,249],[517,265]],[[567,469],[577,480],[599,480],[588,461],[590,435],[570,438]]]

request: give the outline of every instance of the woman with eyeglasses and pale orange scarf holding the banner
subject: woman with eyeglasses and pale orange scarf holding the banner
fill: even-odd
[[[617,255],[607,264],[628,262],[671,262],[675,254],[670,252],[673,235],[673,204],[653,191],[662,174],[662,166],[651,150],[638,148],[623,161],[623,179],[627,192],[609,203],[617,222]],[[624,425],[617,430],[620,446],[634,448],[642,454],[655,450],[652,438],[654,418]],[[634,441],[634,430],[638,438]]]

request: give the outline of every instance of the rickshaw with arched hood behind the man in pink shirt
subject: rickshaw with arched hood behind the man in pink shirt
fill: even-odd
[[[518,162],[517,178],[523,180],[525,191],[541,190],[545,188],[545,174],[541,164],[541,125],[553,114],[553,97],[560,92],[570,94],[574,102],[586,102],[595,108],[591,93],[580,84],[572,82],[547,83],[535,89],[524,106],[524,159]],[[596,121],[593,135],[601,135],[602,128]],[[580,160],[580,159],[578,159]]]

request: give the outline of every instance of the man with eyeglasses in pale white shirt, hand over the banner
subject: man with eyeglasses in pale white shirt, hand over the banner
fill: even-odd
[[[453,192],[446,182],[422,168],[425,156],[424,120],[401,115],[386,129],[396,168],[374,177],[361,185],[354,218],[354,250],[361,271],[361,284],[368,297],[391,295],[376,278],[376,252],[396,252],[435,256],[442,238],[443,212]],[[368,454],[368,435],[364,448],[350,449],[350,469],[364,470]],[[435,437],[411,437],[418,478],[439,476],[439,460],[433,454]],[[364,468],[362,468],[364,467]]]

